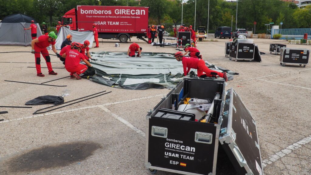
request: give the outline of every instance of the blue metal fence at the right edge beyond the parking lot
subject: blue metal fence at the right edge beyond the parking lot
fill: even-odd
[[[273,35],[275,34],[281,34],[282,39],[285,39],[285,38],[302,39],[305,33],[308,34],[308,38],[311,37],[311,28],[308,28],[308,29],[272,29],[271,39],[273,39]]]

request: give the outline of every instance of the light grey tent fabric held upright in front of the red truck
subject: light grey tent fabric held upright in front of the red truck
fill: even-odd
[[[81,44],[84,43],[85,40],[90,41],[89,48],[92,48],[92,44],[94,42],[94,35],[93,31],[72,31],[68,29],[67,27],[61,27],[61,29],[58,31],[58,36],[55,42],[55,48],[56,50],[61,50],[60,47],[62,46],[62,43],[65,39],[67,39],[67,35],[72,35],[72,42],[79,42]],[[48,50],[52,50],[52,47],[47,47]]]

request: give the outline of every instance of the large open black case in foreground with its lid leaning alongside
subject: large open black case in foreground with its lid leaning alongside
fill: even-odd
[[[210,107],[197,113],[194,101]],[[215,175],[219,142],[239,174],[263,175],[256,122],[239,95],[224,81],[184,78],[146,116],[145,167]]]

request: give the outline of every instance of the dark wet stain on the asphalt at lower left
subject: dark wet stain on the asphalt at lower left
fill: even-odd
[[[43,168],[64,167],[91,156],[101,146],[94,142],[46,145],[2,162],[0,174],[28,173]],[[2,169],[2,170],[1,170]]]

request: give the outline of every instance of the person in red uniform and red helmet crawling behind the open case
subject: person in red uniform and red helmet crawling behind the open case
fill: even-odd
[[[190,69],[197,69],[197,76],[198,77],[214,77],[217,78],[217,76],[220,76],[225,79],[225,81],[228,81],[227,74],[217,72],[211,69],[208,69],[208,67],[205,65],[205,61],[203,59],[193,58],[193,57],[184,57],[182,52],[176,52],[174,55],[176,57],[177,61],[183,62],[183,75],[186,76]],[[204,72],[204,73],[203,73]]]

